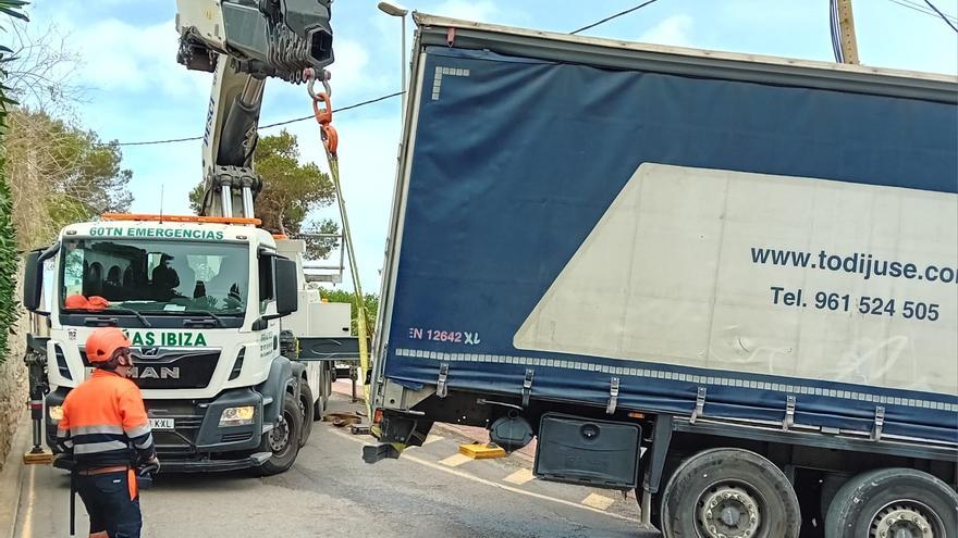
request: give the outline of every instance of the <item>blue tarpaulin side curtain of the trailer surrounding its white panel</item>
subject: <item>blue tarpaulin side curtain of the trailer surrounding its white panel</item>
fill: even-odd
[[[797,424],[870,431],[876,408],[884,408],[887,435],[958,440],[954,391],[689,367],[654,352],[624,361],[603,356],[607,353],[515,346],[530,313],[646,163],[754,174],[759,182],[813,178],[806,182],[935,192],[954,208],[954,95],[869,93],[864,83],[848,90],[803,87],[798,77],[788,84],[754,83],[723,78],[721,70],[714,76],[683,76],[656,72],[654,64],[611,70],[459,48],[458,42],[422,52],[397,267],[384,317],[386,378],[412,387],[435,385],[446,364],[450,388],[520,395],[532,371],[535,397],[602,408],[617,378],[621,408],[681,414],[692,413],[704,388],[705,415],[761,421],[783,421],[790,396]],[[857,223],[848,214],[845,222],[872,226],[882,215],[860,217]],[[759,239],[756,245],[764,247]],[[818,254],[812,247],[819,246],[807,247]],[[941,262],[958,266],[954,259]],[[699,263],[702,273],[710,271],[705,259],[664,255],[655,263]],[[695,277],[696,271],[689,274]],[[609,277],[591,276],[595,281]],[[958,286],[925,283],[933,286],[951,316],[937,323],[954,328]],[[590,297],[588,285],[578,291],[577,315],[584,318],[609,304]],[[849,310],[846,317],[869,315]],[[623,326],[617,334],[628,330]],[[909,361],[916,364],[888,367],[942,372],[936,363],[955,356]]]

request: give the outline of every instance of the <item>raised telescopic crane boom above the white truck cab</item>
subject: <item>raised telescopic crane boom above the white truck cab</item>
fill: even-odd
[[[332,63],[332,0],[177,0],[176,60],[213,73],[202,140],[200,214],[254,216],[253,167],[268,77],[298,84]],[[237,211],[236,208],[242,208]]]

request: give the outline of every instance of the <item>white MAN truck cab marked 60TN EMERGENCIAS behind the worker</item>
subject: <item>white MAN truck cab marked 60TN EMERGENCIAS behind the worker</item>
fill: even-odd
[[[24,303],[48,320],[32,348],[47,358],[51,448],[63,399],[90,372],[87,336],[115,326],[132,342],[164,471],[292,465],[331,364],[297,361],[297,340],[347,341],[349,305],[306,289],[302,241],[254,222],[107,215],[28,257]]]

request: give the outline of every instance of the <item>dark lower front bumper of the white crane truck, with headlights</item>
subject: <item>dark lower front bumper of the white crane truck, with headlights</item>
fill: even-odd
[[[46,409],[62,405],[67,390],[47,395]],[[153,429],[164,472],[216,472],[255,467],[268,460],[256,452],[263,435],[263,398],[251,388],[226,390],[211,400],[146,400],[150,418],[172,418],[173,429]],[[253,405],[253,424],[220,426],[226,408]],[[45,413],[47,445],[56,451],[57,423]],[[267,456],[263,458],[263,454]],[[66,465],[64,460],[62,465]]]

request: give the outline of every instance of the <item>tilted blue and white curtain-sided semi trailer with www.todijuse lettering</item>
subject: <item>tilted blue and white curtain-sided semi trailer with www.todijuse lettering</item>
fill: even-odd
[[[415,20],[368,462],[484,426],[666,537],[955,536],[955,77]]]

